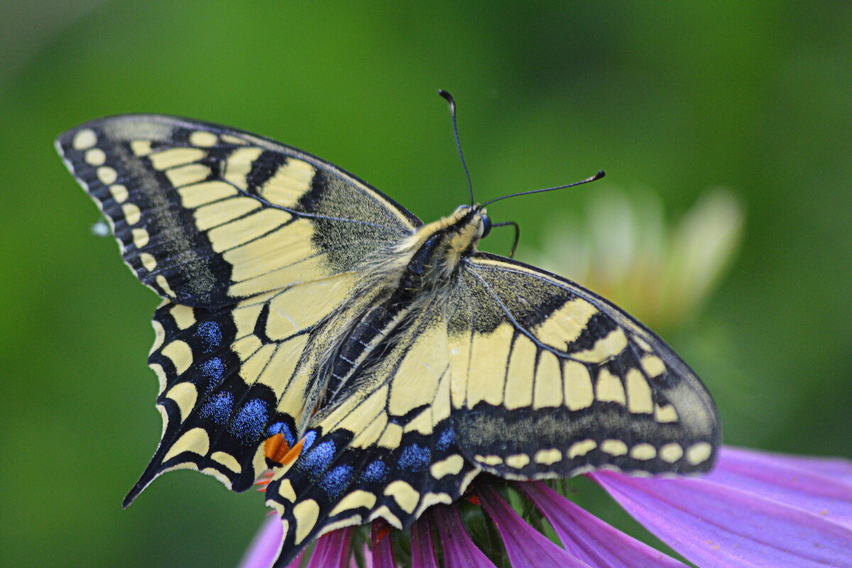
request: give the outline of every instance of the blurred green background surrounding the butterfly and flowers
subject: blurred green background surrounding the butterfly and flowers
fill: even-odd
[[[117,112],[224,123],[431,220],[465,200],[448,89],[479,198],[607,170],[495,204],[526,251],[607,187],[659,192],[676,218],[726,186],[746,209],[739,255],[697,318],[658,330],[716,396],[728,443],[850,456],[850,62],[842,2],[5,0],[0,562],[231,566],[265,513],[189,472],[122,510],[160,432],[158,300],[92,235],[62,130]]]

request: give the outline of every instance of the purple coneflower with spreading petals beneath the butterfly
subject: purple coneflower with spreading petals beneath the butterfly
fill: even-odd
[[[701,478],[648,479],[607,471],[588,477],[700,568],[852,566],[852,462],[726,447],[717,468]],[[484,538],[470,536],[475,531],[463,522],[458,503],[440,505],[424,513],[410,532],[393,531],[395,538],[379,524],[372,526],[366,544],[363,537],[356,544],[354,528],[332,531],[291,566],[344,568],[358,565],[356,559],[372,568],[683,566],[549,485],[534,481],[510,484],[510,491],[500,487],[507,486],[485,479],[475,484],[471,501],[481,503],[490,519]],[[507,501],[509,492],[514,498]],[[510,501],[527,514],[517,513]],[[535,519],[528,523],[525,517]],[[488,542],[489,531],[498,534],[498,543]],[[268,568],[279,539],[280,523],[273,517],[241,568]]]

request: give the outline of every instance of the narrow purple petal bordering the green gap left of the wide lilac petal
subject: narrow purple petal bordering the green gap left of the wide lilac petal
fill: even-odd
[[[600,568],[686,568],[579,508],[547,485],[535,481],[516,485],[550,521],[568,552]]]

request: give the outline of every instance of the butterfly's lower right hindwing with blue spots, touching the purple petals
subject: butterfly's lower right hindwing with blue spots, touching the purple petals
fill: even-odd
[[[415,316],[387,345],[314,417],[268,485],[285,527],[276,566],[342,526],[381,517],[406,528],[425,508],[458,499],[479,473],[455,443],[441,310]]]

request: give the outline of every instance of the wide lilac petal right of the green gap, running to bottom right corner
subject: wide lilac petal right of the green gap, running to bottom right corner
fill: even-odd
[[[852,530],[819,514],[706,479],[589,475],[701,568],[852,566]]]

